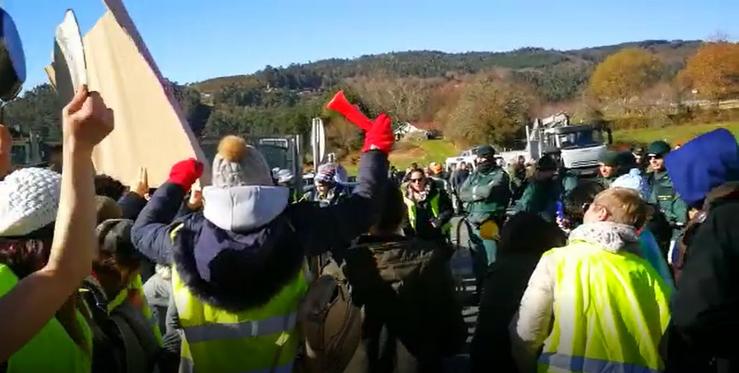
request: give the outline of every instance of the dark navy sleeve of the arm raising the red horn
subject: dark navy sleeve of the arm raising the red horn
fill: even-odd
[[[380,186],[387,181],[387,155],[370,150],[359,161],[359,184],[352,195],[333,206],[321,208],[301,202],[288,210],[306,255],[312,256],[342,247],[362,233],[374,221]]]

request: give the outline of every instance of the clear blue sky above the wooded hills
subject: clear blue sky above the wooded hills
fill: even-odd
[[[184,83],[389,51],[574,49],[643,39],[739,38],[737,0],[127,0],[160,69]],[[26,88],[46,81],[54,28],[83,33],[101,0],[0,0],[26,50]]]

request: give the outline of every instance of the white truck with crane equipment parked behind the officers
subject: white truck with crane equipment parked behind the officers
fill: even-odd
[[[600,157],[613,142],[610,128],[605,124],[571,124],[566,113],[536,119],[526,126],[526,148],[502,152],[505,162],[523,155],[527,161],[536,161],[545,154],[553,155],[562,165],[581,175],[595,174]]]

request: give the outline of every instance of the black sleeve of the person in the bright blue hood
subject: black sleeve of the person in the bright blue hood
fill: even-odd
[[[739,202],[713,209],[687,251],[672,321],[692,348],[733,356],[739,335]]]

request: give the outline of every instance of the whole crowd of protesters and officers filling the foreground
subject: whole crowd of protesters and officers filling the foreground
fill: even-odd
[[[332,103],[364,131],[357,183],[329,162],[305,195],[238,136],[202,191],[194,159],[156,189],[95,175],[113,115],[84,87],[55,169],[14,169],[0,126],[0,372],[739,371],[728,131],[608,152],[594,178],[490,145],[401,174],[390,118]]]

